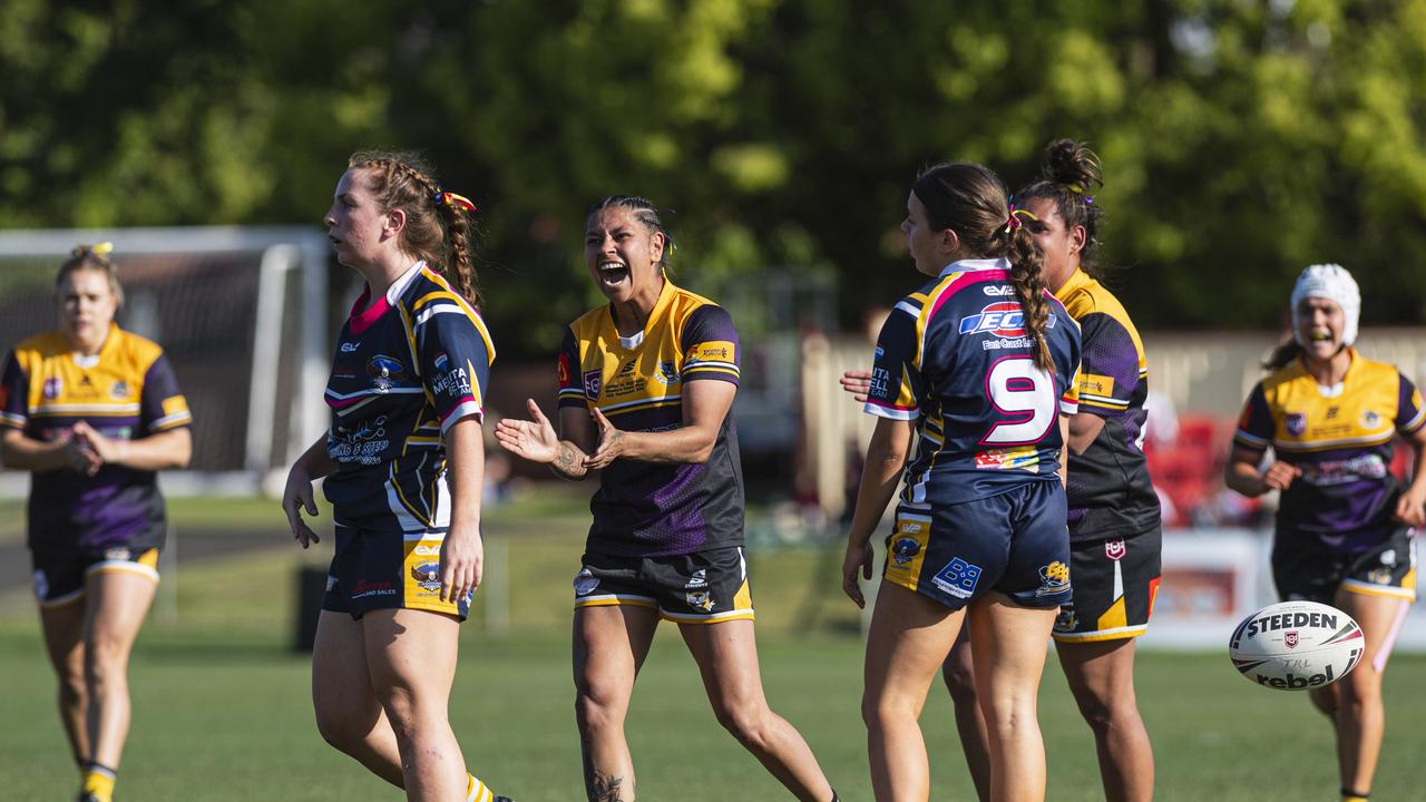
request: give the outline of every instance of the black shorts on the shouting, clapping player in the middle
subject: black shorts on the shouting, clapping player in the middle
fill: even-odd
[[[676,624],[753,621],[743,547],[673,557],[585,554],[575,574],[575,609],[635,605]]]

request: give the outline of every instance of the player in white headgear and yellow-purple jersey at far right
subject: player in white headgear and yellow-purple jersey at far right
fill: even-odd
[[[1352,274],[1313,264],[1292,290],[1292,335],[1248,397],[1225,481],[1282,492],[1273,534],[1278,594],[1346,611],[1366,635],[1352,674],[1310,691],[1336,728],[1342,801],[1368,798],[1382,751],[1382,672],[1416,598],[1415,529],[1426,524],[1426,408],[1395,365],[1352,348],[1362,295]],[[1410,485],[1392,475],[1392,438],[1416,447]],[[1275,452],[1265,469],[1263,455]]]

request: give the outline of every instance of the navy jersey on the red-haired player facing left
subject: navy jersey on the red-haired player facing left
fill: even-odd
[[[495,345],[439,273],[416,263],[371,303],[368,287],[338,337],[327,405],[327,499],[338,525],[431,532],[451,524],[442,435],[485,414]]]

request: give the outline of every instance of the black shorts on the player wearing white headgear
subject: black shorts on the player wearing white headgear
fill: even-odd
[[[1338,588],[1369,597],[1416,601],[1416,538],[1397,527],[1375,548],[1339,552],[1308,538],[1276,537],[1272,581],[1283,599],[1332,604]]]

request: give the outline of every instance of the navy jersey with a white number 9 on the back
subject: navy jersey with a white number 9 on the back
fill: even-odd
[[[1054,371],[1035,367],[1007,260],[961,260],[901,298],[877,338],[866,411],[915,421],[903,505],[1060,481],[1060,412],[1078,408],[1079,327],[1045,293]]]

